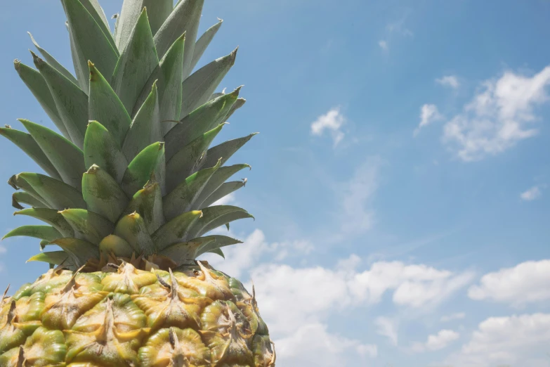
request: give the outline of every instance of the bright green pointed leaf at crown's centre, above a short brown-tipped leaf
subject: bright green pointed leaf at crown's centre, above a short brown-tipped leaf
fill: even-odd
[[[128,165],[122,179],[124,192],[133,196],[136,191],[143,188],[152,175],[160,183],[161,191],[164,193],[165,177],[164,143],[152,143],[143,149]]]

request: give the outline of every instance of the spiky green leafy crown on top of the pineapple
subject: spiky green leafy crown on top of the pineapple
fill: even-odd
[[[254,134],[210,148],[245,102],[240,87],[214,93],[236,49],[191,73],[222,20],[196,40],[204,0],[124,0],[112,34],[97,0],[61,2],[76,77],[32,35],[37,70],[15,60],[60,133],[28,120],[19,120],[28,134],[0,129],[48,174],[9,179],[15,214],[48,225],[4,238],[57,245],[30,261],[72,270],[122,260],[176,268],[205,252],[223,256],[221,247],[240,241],[204,235],[252,216],[211,205],[246,184],[225,181],[248,165],[224,164]]]

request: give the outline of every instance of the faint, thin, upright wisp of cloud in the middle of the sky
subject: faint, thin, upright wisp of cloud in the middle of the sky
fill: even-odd
[[[338,187],[341,195],[341,231],[346,234],[368,231],[374,221],[370,202],[379,186],[381,160],[369,157],[355,169],[350,181]]]

